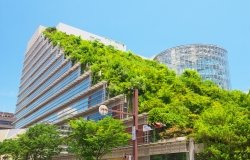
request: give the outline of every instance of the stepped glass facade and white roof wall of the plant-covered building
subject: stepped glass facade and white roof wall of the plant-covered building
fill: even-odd
[[[60,23],[57,30],[81,36],[86,40],[98,40],[116,49],[126,46],[113,40]],[[35,123],[63,124],[73,117],[100,119],[98,106],[123,105],[123,96],[108,98],[107,83],[95,85],[91,72],[82,71],[79,63],[72,63],[63,50],[54,47],[42,34],[40,26],[27,46],[19,94],[16,105],[15,128],[26,128]]]

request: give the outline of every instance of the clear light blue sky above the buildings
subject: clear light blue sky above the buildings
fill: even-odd
[[[1,0],[0,111],[14,112],[26,45],[63,22],[123,42],[144,57],[182,44],[228,50],[232,89],[250,89],[249,0]]]

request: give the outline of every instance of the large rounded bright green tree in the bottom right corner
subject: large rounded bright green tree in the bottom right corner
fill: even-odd
[[[195,123],[195,138],[206,146],[200,159],[249,159],[249,133],[250,119],[246,108],[214,104]]]

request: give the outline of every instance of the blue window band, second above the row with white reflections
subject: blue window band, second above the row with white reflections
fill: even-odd
[[[23,115],[27,115],[28,112],[30,110],[32,110],[33,108],[35,108],[36,106],[38,106],[39,104],[41,104],[42,102],[46,101],[49,97],[53,96],[54,94],[58,93],[61,89],[63,89],[65,86],[67,86],[68,84],[70,84],[71,82],[73,82],[77,77],[79,77],[80,75],[80,69],[72,72],[70,75],[68,75],[65,79],[63,79],[61,82],[59,82],[58,84],[56,84],[55,86],[53,86],[52,88],[50,88],[45,94],[41,95],[41,92],[45,89],[45,88],[41,88],[40,90],[38,90],[38,94],[40,93],[40,98],[38,98],[37,100],[35,100],[34,102],[32,102],[31,104],[29,104],[28,108],[22,110],[21,112],[19,112],[16,117],[20,118]],[[48,81],[47,81],[48,82]],[[50,84],[50,83],[48,83]]]

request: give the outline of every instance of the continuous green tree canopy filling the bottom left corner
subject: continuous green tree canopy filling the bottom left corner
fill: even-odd
[[[60,153],[60,144],[56,126],[37,124],[16,139],[0,143],[0,155],[11,155],[14,160],[50,160]]]

